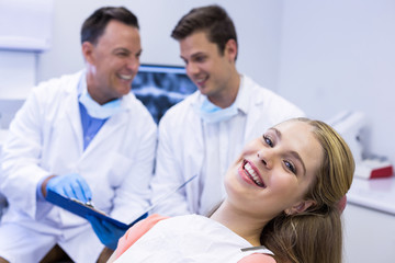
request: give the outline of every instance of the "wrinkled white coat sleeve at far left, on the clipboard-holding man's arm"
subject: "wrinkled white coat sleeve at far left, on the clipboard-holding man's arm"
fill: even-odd
[[[34,218],[37,183],[49,175],[41,167],[43,151],[43,116],[45,112],[35,90],[11,122],[2,149],[0,191],[8,202]],[[21,194],[23,193],[23,194]]]

